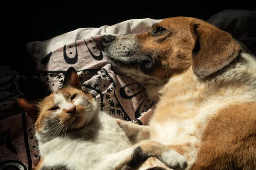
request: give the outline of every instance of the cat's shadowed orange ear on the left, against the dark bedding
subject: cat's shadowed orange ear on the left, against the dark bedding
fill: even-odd
[[[39,113],[37,105],[32,103],[26,96],[19,96],[18,102],[20,107],[29,115],[29,117],[36,119]]]

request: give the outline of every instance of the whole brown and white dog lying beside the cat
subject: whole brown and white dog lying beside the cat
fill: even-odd
[[[116,71],[158,101],[149,126],[121,122],[133,140],[168,145],[186,157],[187,169],[256,169],[256,57],[229,33],[173,17],[102,44]]]

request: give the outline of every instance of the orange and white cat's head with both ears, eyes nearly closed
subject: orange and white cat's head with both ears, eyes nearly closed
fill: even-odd
[[[59,133],[57,130],[74,130],[88,124],[96,115],[97,106],[91,94],[82,91],[79,76],[70,67],[64,77],[63,87],[40,102],[18,98],[21,108],[36,119],[38,133]],[[56,135],[56,134],[55,134]]]

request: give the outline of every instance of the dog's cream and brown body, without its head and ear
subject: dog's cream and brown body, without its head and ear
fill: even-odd
[[[256,59],[200,81],[192,70],[170,81],[151,119],[151,139],[186,156],[189,168],[256,167]]]

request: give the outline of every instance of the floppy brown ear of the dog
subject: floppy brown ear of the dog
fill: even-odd
[[[231,34],[207,22],[191,26],[195,45],[192,51],[192,69],[196,76],[207,77],[233,61],[241,51]]]

